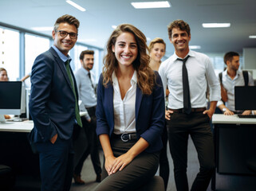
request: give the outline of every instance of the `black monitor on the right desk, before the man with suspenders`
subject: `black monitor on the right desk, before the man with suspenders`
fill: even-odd
[[[234,87],[235,110],[256,110],[256,86]]]

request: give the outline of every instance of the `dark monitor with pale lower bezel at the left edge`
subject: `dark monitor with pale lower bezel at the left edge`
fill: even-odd
[[[22,82],[0,81],[0,114],[21,115]]]

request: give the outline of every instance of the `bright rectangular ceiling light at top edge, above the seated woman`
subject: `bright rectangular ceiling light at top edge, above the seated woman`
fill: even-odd
[[[168,8],[171,7],[171,3],[164,2],[131,2],[135,9],[153,9],[153,8]]]

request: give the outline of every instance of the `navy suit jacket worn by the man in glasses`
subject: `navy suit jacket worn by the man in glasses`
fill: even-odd
[[[77,92],[74,76],[73,81]],[[75,101],[65,64],[56,51],[50,48],[39,55],[33,63],[30,115],[34,127],[30,136],[31,141],[46,142],[54,134],[65,140],[71,138],[76,118]]]

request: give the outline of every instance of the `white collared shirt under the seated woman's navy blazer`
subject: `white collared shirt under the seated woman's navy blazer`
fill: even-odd
[[[137,73],[134,71],[131,79],[131,88],[126,92],[124,99],[121,98],[120,88],[115,72],[112,74],[113,82],[113,104],[114,104],[114,119],[115,119],[115,134],[135,133],[136,132],[136,118],[135,118],[135,104],[136,104],[136,86]]]

